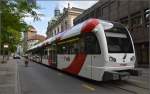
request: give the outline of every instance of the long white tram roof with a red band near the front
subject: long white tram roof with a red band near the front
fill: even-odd
[[[48,38],[47,40],[45,40],[45,41],[43,41],[43,42],[41,42],[41,43],[39,43],[39,44],[29,48],[27,51],[43,47],[44,45],[47,45],[47,44],[51,44],[55,40],[56,41],[57,40],[63,40],[63,39],[67,39],[67,38],[72,37],[72,36],[76,36],[76,35],[80,34],[83,29],[85,29],[84,28],[85,26],[87,27],[86,29],[92,30],[99,23],[102,24],[104,29],[108,29],[108,28],[113,26],[113,24],[111,22],[109,22],[109,21],[91,18],[91,19],[88,19],[88,20],[86,20],[86,21],[84,21],[84,22],[82,22],[82,23],[80,23],[80,24],[78,24],[76,26],[73,26],[69,30],[66,30],[64,32],[60,32],[56,36]],[[93,25],[95,25],[95,26],[93,26]],[[93,28],[89,28],[89,27],[92,27],[92,26],[93,26]],[[110,26],[110,27],[108,27],[108,26]]]

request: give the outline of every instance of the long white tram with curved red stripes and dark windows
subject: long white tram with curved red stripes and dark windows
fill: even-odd
[[[91,18],[28,49],[30,59],[96,81],[134,74],[135,50],[120,23]]]

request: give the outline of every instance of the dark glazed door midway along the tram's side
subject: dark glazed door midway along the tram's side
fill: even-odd
[[[55,43],[52,43],[49,49],[49,64],[53,67],[57,67],[57,50]]]

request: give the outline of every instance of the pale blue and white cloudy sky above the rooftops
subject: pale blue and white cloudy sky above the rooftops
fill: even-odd
[[[46,30],[48,21],[51,20],[51,18],[54,16],[54,9],[56,6],[59,7],[59,9],[63,10],[64,7],[68,7],[68,3],[70,3],[70,7],[77,7],[82,9],[87,9],[91,7],[93,4],[95,4],[97,1],[95,0],[89,0],[89,1],[51,1],[51,0],[37,0],[37,5],[40,6],[40,9],[37,10],[38,13],[44,14],[43,17],[41,17],[40,21],[33,22],[33,19],[30,17],[26,17],[24,20],[30,24],[33,25],[38,34],[42,34],[46,36]]]

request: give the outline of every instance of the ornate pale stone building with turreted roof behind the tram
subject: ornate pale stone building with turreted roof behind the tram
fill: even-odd
[[[84,10],[76,7],[63,9],[63,13],[60,13],[58,8],[55,9],[55,16],[48,22],[47,36],[52,37],[60,32],[63,32],[73,26],[73,19],[81,14]]]

